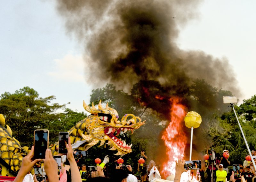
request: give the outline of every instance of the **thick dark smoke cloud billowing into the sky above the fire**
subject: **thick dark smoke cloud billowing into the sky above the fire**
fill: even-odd
[[[161,112],[161,106],[170,105],[168,96],[187,93],[196,79],[240,94],[227,59],[214,58],[203,51],[184,51],[176,44],[179,29],[198,18],[200,3],[199,0],[59,0],[57,9],[65,19],[67,32],[84,44],[84,54],[91,57],[86,59],[86,71],[91,75],[88,83],[113,83],[124,91],[141,84],[142,96],[152,95],[159,107],[155,102],[151,108],[155,106],[153,109]],[[148,91],[152,80],[160,84],[160,94]],[[146,105],[150,107],[150,103]],[[169,111],[163,111],[166,118]]]

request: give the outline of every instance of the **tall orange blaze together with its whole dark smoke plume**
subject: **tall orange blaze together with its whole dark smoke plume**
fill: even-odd
[[[93,71],[88,83],[109,82],[132,90],[141,105],[170,121],[161,133],[169,158],[161,169],[164,176],[170,173],[165,167],[186,153],[183,119],[187,110],[196,110],[204,120],[209,110],[221,111],[225,90],[239,94],[226,59],[184,51],[176,44],[179,28],[197,17],[199,3],[60,0],[57,5],[68,33],[84,43],[84,55],[90,57],[85,60]]]

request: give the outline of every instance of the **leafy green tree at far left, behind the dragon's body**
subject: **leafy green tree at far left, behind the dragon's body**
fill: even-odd
[[[76,113],[65,108],[65,104],[52,103],[55,96],[46,98],[29,87],[23,87],[11,94],[1,95],[0,113],[5,116],[6,125],[12,129],[12,135],[21,146],[32,146],[35,129],[48,129],[50,142],[56,142],[59,131],[67,131],[76,122],[83,119],[84,113]],[[66,109],[64,113],[58,110]],[[79,120],[80,119],[80,120]]]

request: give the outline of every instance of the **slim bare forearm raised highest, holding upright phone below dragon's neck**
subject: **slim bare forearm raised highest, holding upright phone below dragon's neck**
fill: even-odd
[[[82,182],[82,178],[80,176],[80,172],[77,167],[75,157],[73,155],[73,149],[71,146],[70,137],[68,137],[68,144],[66,145],[66,147],[68,149],[67,158],[70,164],[71,180],[76,182],[79,182],[79,181]]]

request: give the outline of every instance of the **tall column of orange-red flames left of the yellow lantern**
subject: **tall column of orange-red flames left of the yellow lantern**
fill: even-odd
[[[175,174],[175,160],[184,157],[187,144],[187,136],[183,131],[183,121],[186,116],[186,106],[180,103],[180,99],[171,98],[171,122],[165,129],[162,140],[167,148],[168,161],[163,164],[161,171],[164,177]]]

